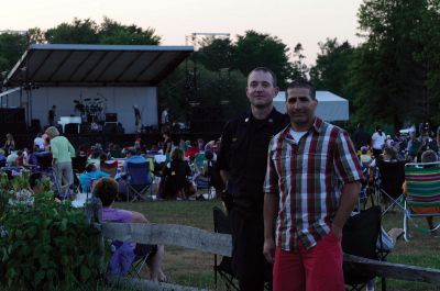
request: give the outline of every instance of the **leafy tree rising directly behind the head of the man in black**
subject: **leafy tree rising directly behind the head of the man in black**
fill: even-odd
[[[278,86],[285,88],[295,76],[288,53],[289,48],[278,37],[246,31],[238,36],[233,68],[246,76],[255,67],[268,67],[276,74]]]

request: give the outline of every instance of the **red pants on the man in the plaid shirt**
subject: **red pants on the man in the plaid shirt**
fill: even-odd
[[[341,242],[331,232],[307,250],[298,238],[298,249],[275,249],[274,291],[343,291]]]

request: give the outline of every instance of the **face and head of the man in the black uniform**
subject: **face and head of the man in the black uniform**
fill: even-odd
[[[251,105],[263,109],[271,107],[278,88],[273,86],[272,75],[262,70],[255,70],[249,75],[246,96]]]

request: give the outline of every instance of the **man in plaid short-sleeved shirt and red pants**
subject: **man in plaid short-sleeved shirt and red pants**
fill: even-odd
[[[290,83],[290,125],[268,147],[263,253],[274,291],[344,290],[342,227],[363,176],[349,134],[317,117],[317,104],[310,82]]]

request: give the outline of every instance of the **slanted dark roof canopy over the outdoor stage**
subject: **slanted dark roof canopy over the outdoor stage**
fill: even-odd
[[[4,86],[154,87],[193,52],[193,46],[34,44]]]

